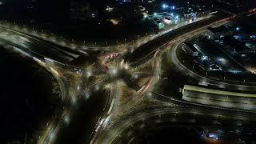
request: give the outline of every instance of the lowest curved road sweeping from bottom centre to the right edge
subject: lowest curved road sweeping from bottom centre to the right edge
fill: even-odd
[[[214,125],[219,124],[219,126],[238,126],[238,125],[249,125],[253,124],[254,121],[256,120],[254,116],[251,116],[248,114],[246,117],[243,115],[238,115],[238,114],[231,114],[230,112],[219,112],[219,111],[214,111],[214,112],[209,112],[208,110],[197,110],[197,109],[192,109],[192,108],[185,108],[185,107],[170,107],[170,108],[158,108],[158,109],[150,109],[150,110],[142,110],[139,113],[136,114],[130,114],[128,116],[122,117],[118,119],[117,122],[114,123],[112,127],[104,134],[102,139],[98,139],[98,142],[103,142],[103,143],[109,143],[114,140],[114,138],[117,138],[119,134],[123,130],[126,130],[130,126],[134,126],[135,122],[142,121],[144,122],[146,118],[158,116],[158,115],[163,115],[163,114],[168,114],[171,117],[174,118],[175,122],[181,122],[188,121],[192,122],[191,124],[194,124],[195,122],[209,122],[207,125]],[[180,114],[189,114],[193,116],[192,120],[190,118],[180,118],[177,119],[177,115]],[[212,120],[195,120],[196,118],[194,116],[202,115],[202,118],[211,118]],[[242,119],[241,119],[242,118]],[[171,118],[167,118],[172,121]],[[231,119],[231,120],[230,120]],[[227,121],[225,121],[227,120]],[[216,123],[217,122],[217,123]]]

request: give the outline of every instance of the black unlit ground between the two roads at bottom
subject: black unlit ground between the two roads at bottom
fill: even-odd
[[[103,114],[104,106],[107,101],[108,92],[98,90],[90,92],[90,98],[72,102],[69,122],[64,122],[62,129],[58,130],[57,143],[88,143],[94,126]],[[87,97],[87,96],[84,96]]]

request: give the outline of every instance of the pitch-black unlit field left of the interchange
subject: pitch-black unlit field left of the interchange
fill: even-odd
[[[58,84],[37,63],[2,47],[0,66],[0,143],[33,141],[60,106]]]

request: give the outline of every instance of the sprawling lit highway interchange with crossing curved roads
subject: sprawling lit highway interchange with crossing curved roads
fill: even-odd
[[[36,37],[18,30],[18,26],[6,26],[6,22],[2,22],[0,44],[33,58],[56,78],[60,86],[62,114],[54,115],[47,122],[46,129],[38,135],[38,143],[116,143],[125,137],[127,142],[133,142],[135,135],[131,132],[127,136],[123,132],[137,129],[138,122],[143,128],[143,123],[151,122],[152,118],[156,123],[253,126],[256,121],[254,110],[186,102],[157,89],[164,82],[162,75],[166,75],[162,68],[162,59],[166,56],[173,63],[168,66],[175,66],[171,69],[178,70],[180,77],[219,88],[228,87],[228,90],[253,90],[255,86],[251,84],[220,82],[195,74],[178,60],[176,50],[182,42],[203,34],[209,26],[227,22],[230,22],[227,17],[207,17],[154,35],[139,44],[122,46],[122,49],[74,46],[45,34],[41,34],[45,38]],[[105,52],[96,53],[98,50]],[[118,55],[106,60],[106,55],[113,53]],[[77,63],[74,62],[76,59]],[[202,122],[204,118],[206,120]]]

